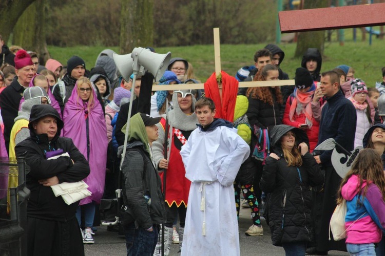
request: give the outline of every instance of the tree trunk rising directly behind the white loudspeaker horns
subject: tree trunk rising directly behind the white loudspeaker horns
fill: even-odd
[[[153,45],[152,0],[122,0],[120,53]]]

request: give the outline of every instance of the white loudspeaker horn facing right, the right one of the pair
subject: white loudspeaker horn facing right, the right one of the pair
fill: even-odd
[[[153,53],[149,49],[138,47],[134,48],[131,53],[132,59],[135,56],[138,57],[138,64],[147,69],[154,76],[155,81],[159,81],[167,70],[171,59],[171,52],[159,54]]]

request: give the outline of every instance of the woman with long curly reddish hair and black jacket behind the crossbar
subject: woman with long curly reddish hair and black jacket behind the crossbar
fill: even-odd
[[[254,81],[274,81],[278,80],[278,68],[274,65],[267,64],[254,77]],[[282,116],[284,104],[282,94],[279,87],[254,87],[248,88],[246,91],[248,98],[247,118],[254,133],[252,134],[251,152],[254,151],[258,138],[255,131],[267,129],[272,131],[273,127],[282,124]],[[262,175],[262,161],[255,160],[256,174],[254,176],[254,193],[258,202],[261,202],[262,191],[259,188],[259,181]]]

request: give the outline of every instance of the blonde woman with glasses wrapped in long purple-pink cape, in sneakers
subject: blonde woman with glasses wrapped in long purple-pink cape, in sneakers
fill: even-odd
[[[108,142],[102,105],[88,78],[80,77],[76,81],[64,108],[63,121],[63,136],[73,140],[90,165],[90,175],[84,181],[92,196],[80,201],[76,218],[81,226],[83,212],[83,242],[93,244],[92,225],[95,205],[100,204],[104,192]]]

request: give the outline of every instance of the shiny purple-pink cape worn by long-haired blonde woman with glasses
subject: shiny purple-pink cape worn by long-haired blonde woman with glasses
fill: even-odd
[[[88,103],[78,95],[78,82],[72,90],[63,111],[63,136],[71,138],[79,151],[88,160],[90,175],[84,179],[92,195],[80,201],[80,205],[95,201],[100,203],[104,192],[107,162],[107,130],[102,106],[92,88],[93,106],[88,112]],[[85,115],[88,113],[89,157],[87,156],[87,130]]]

